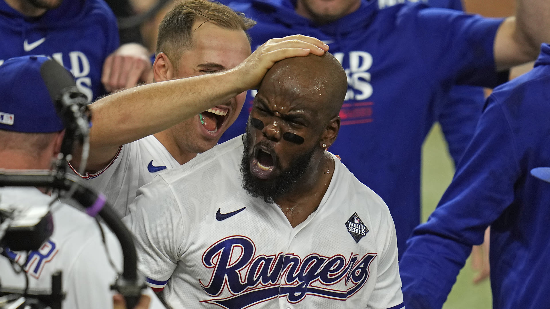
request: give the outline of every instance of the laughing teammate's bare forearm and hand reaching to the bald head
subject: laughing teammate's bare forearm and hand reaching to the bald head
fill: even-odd
[[[168,129],[256,87],[277,61],[310,52],[322,56],[326,50],[328,45],[313,37],[274,38],[228,71],[114,93],[90,105],[90,148],[119,146]]]

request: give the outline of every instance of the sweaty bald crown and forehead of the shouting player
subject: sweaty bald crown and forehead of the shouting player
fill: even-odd
[[[276,91],[287,100],[309,101],[329,120],[338,115],[348,79],[344,68],[331,53],[309,54],[281,60],[267,71],[258,92]]]

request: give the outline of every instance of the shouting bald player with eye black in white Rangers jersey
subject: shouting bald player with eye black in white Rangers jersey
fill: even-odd
[[[276,63],[245,135],[138,191],[125,220],[169,306],[403,308],[388,208],[324,150],[346,85],[329,53]]]

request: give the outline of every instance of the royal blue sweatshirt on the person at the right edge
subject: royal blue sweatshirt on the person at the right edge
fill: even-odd
[[[491,225],[494,309],[550,307],[550,46],[535,68],[497,87],[456,174],[399,264],[408,309],[441,308],[472,245]]]

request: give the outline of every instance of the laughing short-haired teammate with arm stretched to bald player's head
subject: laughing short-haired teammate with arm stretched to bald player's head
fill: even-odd
[[[180,2],[159,27],[153,65],[155,81],[189,78],[236,67],[250,56],[245,31],[253,24],[254,21],[222,4],[205,0]],[[124,217],[138,188],[149,183],[153,176],[184,164],[197,153],[216,145],[243,107],[243,91],[256,86],[277,60],[296,56],[285,48],[315,48],[314,52],[323,53],[310,43],[297,41],[300,39],[322,46],[320,41],[303,36],[274,40],[251,56],[248,64],[238,71],[240,75],[233,76],[233,81],[206,78],[202,84],[174,85],[157,92],[135,90],[134,97],[124,97],[132,90],[92,104],[94,126],[87,165],[91,172],[84,178],[96,190],[105,192],[119,217]],[[298,49],[301,56],[306,54]],[[254,59],[263,57],[260,56],[263,53],[265,59],[271,60],[255,63]],[[255,80],[244,78],[243,74],[254,71],[260,74]],[[181,89],[186,92],[182,93]],[[195,112],[189,112],[193,110]],[[72,163],[78,166],[78,162]]]

